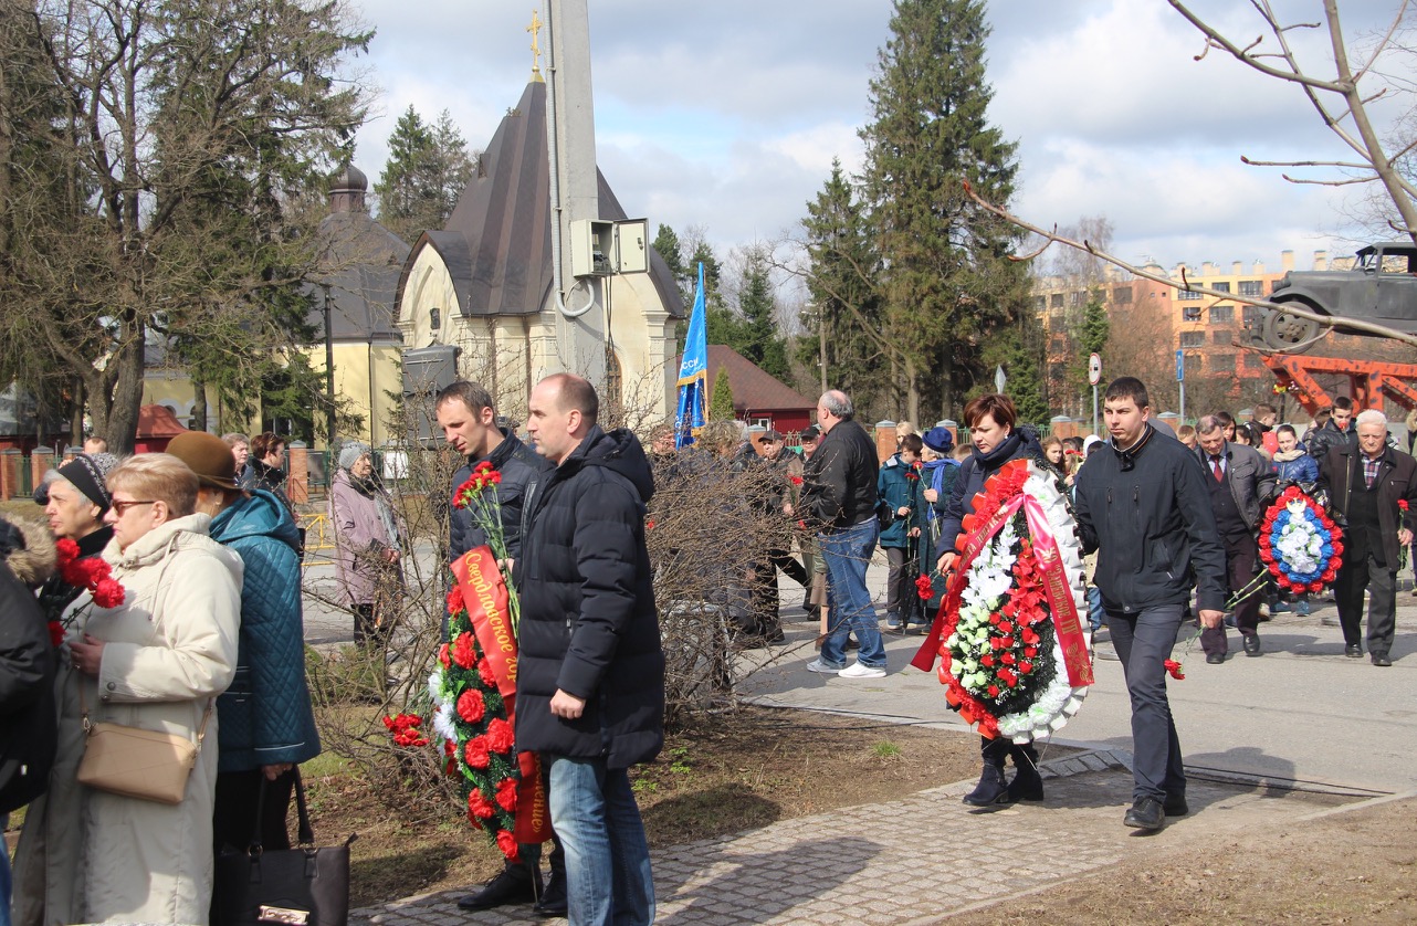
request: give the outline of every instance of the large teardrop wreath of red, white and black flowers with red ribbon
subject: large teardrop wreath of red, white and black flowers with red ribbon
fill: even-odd
[[[990,476],[973,508],[925,647],[965,721],[1023,743],[1061,729],[1093,684],[1080,545],[1057,481],[1029,460]]]

